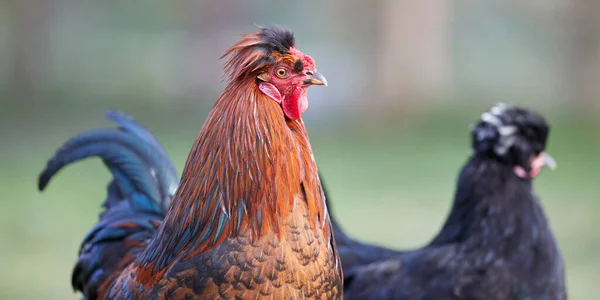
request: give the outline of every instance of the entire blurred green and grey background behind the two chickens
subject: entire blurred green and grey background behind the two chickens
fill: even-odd
[[[0,298],[77,299],[70,273],[108,172],[69,167],[36,189],[73,134],[135,116],[181,171],[222,91],[239,34],[285,24],[329,87],[305,113],[333,213],[358,238],[417,247],[440,228],[498,101],[552,124],[555,172],[536,180],[571,299],[600,278],[600,1],[0,1]]]

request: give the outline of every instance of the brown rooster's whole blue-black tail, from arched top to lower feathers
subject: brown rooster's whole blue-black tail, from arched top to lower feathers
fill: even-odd
[[[99,157],[113,175],[99,222],[81,245],[72,284],[87,299],[110,287],[160,226],[179,178],[158,140],[130,116],[108,111],[119,128],[92,129],[75,135],[56,151],[40,174],[44,190],[70,163]]]

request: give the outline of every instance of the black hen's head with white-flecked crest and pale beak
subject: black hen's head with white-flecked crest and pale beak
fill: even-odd
[[[539,114],[499,103],[472,126],[472,146],[477,153],[510,164],[517,176],[531,179],[543,167],[556,167],[554,159],[544,152],[549,130]]]

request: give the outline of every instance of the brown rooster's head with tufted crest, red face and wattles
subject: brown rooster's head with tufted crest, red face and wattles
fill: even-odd
[[[327,85],[315,61],[295,47],[294,34],[283,27],[261,27],[243,37],[223,55],[229,56],[229,80],[255,80],[258,90],[281,105],[288,119],[300,119],[308,108],[308,87]]]

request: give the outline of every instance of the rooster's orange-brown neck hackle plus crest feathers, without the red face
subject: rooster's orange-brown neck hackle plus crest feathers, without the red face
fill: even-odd
[[[280,226],[293,213],[295,201],[306,202],[312,230],[329,237],[304,124],[286,119],[250,76],[294,58],[290,49],[294,52],[293,35],[275,28],[246,35],[226,52],[229,84],[194,143],[163,226],[140,259],[141,282],[175,260],[206,252],[243,232],[253,239],[267,233],[284,238]]]

